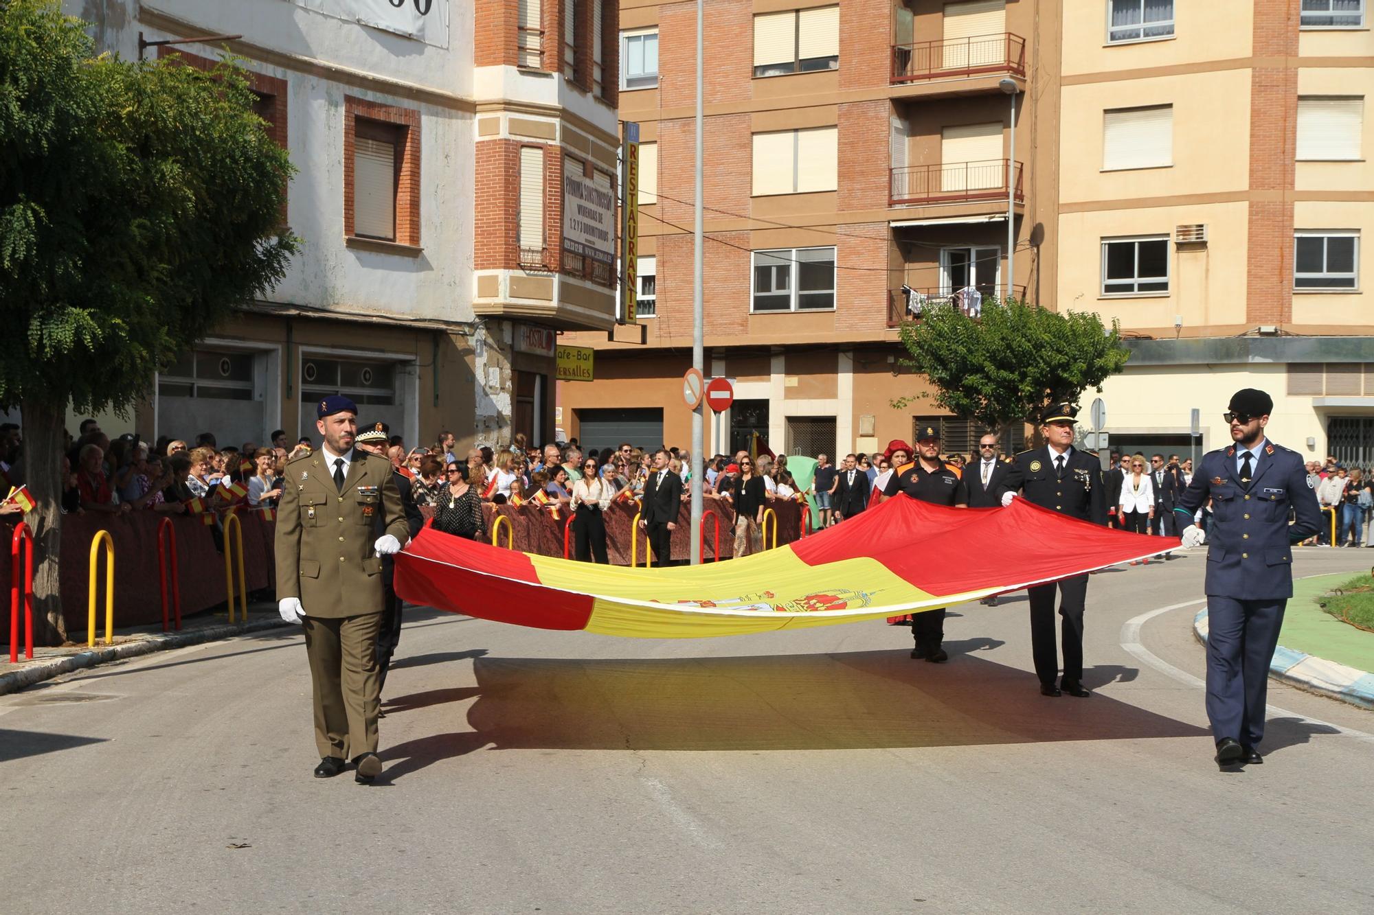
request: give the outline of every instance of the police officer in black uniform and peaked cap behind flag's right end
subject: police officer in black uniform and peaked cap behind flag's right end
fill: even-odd
[[[1040,434],[1046,445],[1024,451],[1011,462],[1011,473],[1003,484],[1007,488],[1002,504],[1010,506],[1017,492],[1032,504],[1058,511],[1070,518],[1081,518],[1106,526],[1106,485],[1102,464],[1095,455],[1073,447],[1073,420],[1077,411],[1072,404],[1054,404],[1040,415]],[[1030,650],[1035,672],[1040,677],[1040,695],[1092,695],[1083,688],[1083,611],[1088,598],[1088,576],[1073,576],[1058,583],[1028,588],[1030,594]],[[1063,679],[1059,654],[1054,644],[1054,595],[1059,592],[1059,615],[1063,617]]]

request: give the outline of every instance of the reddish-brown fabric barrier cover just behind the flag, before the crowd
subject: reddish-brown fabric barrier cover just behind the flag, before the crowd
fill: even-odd
[[[797,540],[801,536],[801,512],[802,506],[794,500],[776,499],[768,504],[769,508],[778,512],[778,545],[783,545]],[[430,507],[422,507],[420,512],[430,518],[434,511]],[[486,530],[491,536],[492,525],[497,515],[510,518],[511,532],[515,534],[514,548],[521,552],[536,552],[544,556],[562,556],[563,555],[563,526],[567,523],[567,511],[559,510],[559,518],[554,519],[552,512],[541,506],[534,506],[526,503],[523,506],[493,506],[492,503],[482,504],[482,512],[486,518]],[[720,499],[706,499],[702,512],[702,530],[706,534],[706,545],[702,550],[702,559],[712,561],[716,555],[716,539],[713,532],[713,525],[709,515],[714,512],[716,521],[720,525],[720,558],[728,559],[735,554],[735,510],[730,503]],[[610,508],[606,510],[606,554],[611,565],[628,566],[631,556],[631,541],[629,532],[635,515],[639,514],[639,506],[632,501],[613,501]],[[772,522],[768,523],[769,532],[772,530]],[[500,543],[506,545],[506,525],[502,525]],[[772,537],[769,537],[772,543]],[[673,530],[673,559],[686,561],[691,555],[691,507],[683,503],[682,511],[677,515],[677,529]],[[636,559],[639,565],[644,565],[644,550],[649,544],[644,539],[643,532],[639,533],[639,547],[636,552]],[[573,558],[576,555],[576,534],[567,532],[567,555]]]

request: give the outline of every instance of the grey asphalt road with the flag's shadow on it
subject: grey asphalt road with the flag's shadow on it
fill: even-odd
[[[3,908],[1374,911],[1374,714],[1274,683],[1264,765],[1219,773],[1178,606],[1202,565],[1094,576],[1090,699],[1039,695],[1024,592],[954,609],[945,665],[879,622],[414,611],[371,787],[311,778],[295,631],[71,675],[0,698]]]

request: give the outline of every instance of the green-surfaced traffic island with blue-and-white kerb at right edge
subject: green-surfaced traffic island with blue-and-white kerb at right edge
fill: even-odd
[[[1279,647],[1270,676],[1296,687],[1374,709],[1374,635],[1347,625],[1323,611],[1316,598],[1355,577],[1340,572],[1293,583],[1293,598],[1283,613]],[[1193,632],[1206,644],[1208,618],[1201,610]]]

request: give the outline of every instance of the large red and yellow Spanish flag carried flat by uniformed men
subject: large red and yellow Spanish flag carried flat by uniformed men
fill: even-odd
[[[690,567],[573,562],[426,528],[396,556],[396,594],[541,629],[743,635],[944,607],[1179,545],[1024,499],[1007,508],[945,508],[903,496],[785,547]]]

